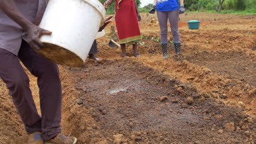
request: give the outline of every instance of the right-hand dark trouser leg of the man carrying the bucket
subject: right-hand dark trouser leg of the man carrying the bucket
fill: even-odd
[[[61,133],[61,82],[57,64],[40,56],[26,41],[22,41],[18,54],[21,62],[38,77],[42,138],[50,140]]]

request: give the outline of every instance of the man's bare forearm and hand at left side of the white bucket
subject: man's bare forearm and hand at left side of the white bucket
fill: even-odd
[[[50,31],[39,28],[30,22],[17,8],[13,0],[0,0],[0,9],[27,32],[27,42],[31,47],[38,50],[44,47],[44,44],[41,43],[39,38],[44,34],[51,34]]]

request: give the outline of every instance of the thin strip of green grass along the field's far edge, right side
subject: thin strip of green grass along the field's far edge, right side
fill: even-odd
[[[198,11],[186,11],[186,13],[201,13],[201,10]],[[243,11],[238,10],[222,10],[220,13],[216,12],[215,10],[205,10],[206,13],[210,14],[236,14],[236,15],[255,15],[256,10],[255,9],[247,9]]]

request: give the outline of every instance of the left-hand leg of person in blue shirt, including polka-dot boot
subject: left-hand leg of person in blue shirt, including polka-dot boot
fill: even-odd
[[[158,21],[161,31],[161,47],[163,52],[163,57],[167,58],[167,34],[168,34],[168,27],[167,27],[167,19],[168,15],[166,12],[157,11],[158,14]]]

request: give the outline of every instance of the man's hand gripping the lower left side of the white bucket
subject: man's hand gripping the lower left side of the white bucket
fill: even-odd
[[[27,43],[33,48],[33,49],[43,49],[44,44],[39,40],[39,38],[42,35],[50,35],[51,32],[47,31],[45,29],[42,29],[38,26],[32,25],[27,30]]]

